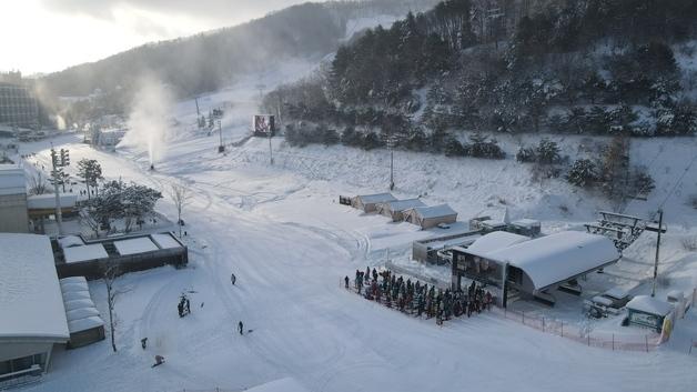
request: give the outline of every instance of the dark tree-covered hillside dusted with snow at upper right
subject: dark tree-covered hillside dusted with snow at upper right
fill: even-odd
[[[461,154],[463,130],[695,134],[696,39],[693,0],[448,0],[264,104],[296,144]]]

